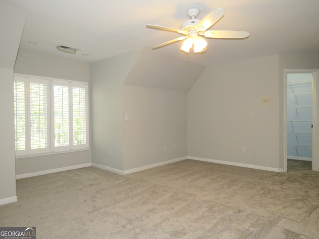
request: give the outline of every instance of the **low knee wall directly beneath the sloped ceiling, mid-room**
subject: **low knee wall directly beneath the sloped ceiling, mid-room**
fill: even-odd
[[[123,114],[124,170],[187,156],[186,93],[124,85]]]

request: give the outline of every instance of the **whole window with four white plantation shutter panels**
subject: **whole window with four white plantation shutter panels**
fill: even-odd
[[[15,75],[13,89],[17,157],[88,149],[88,83]]]

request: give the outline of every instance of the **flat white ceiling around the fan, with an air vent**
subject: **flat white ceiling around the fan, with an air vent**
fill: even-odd
[[[179,29],[189,19],[186,10],[190,7],[201,9],[198,18],[221,7],[225,16],[210,29],[246,30],[250,37],[208,39],[208,50],[190,53],[189,62],[208,66],[289,51],[319,53],[319,0],[4,1],[27,10],[21,49],[78,61],[94,62],[177,38],[181,35],[145,25]],[[67,54],[57,51],[57,45],[79,51],[77,55]],[[176,42],[154,51],[187,61],[180,46],[181,42]]]

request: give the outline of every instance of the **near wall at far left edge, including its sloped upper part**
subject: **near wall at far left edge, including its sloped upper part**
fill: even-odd
[[[0,1],[0,205],[16,201],[13,67],[26,12]]]

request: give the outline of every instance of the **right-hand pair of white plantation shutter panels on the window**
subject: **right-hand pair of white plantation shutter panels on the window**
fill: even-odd
[[[52,151],[88,148],[87,83],[52,81]]]

